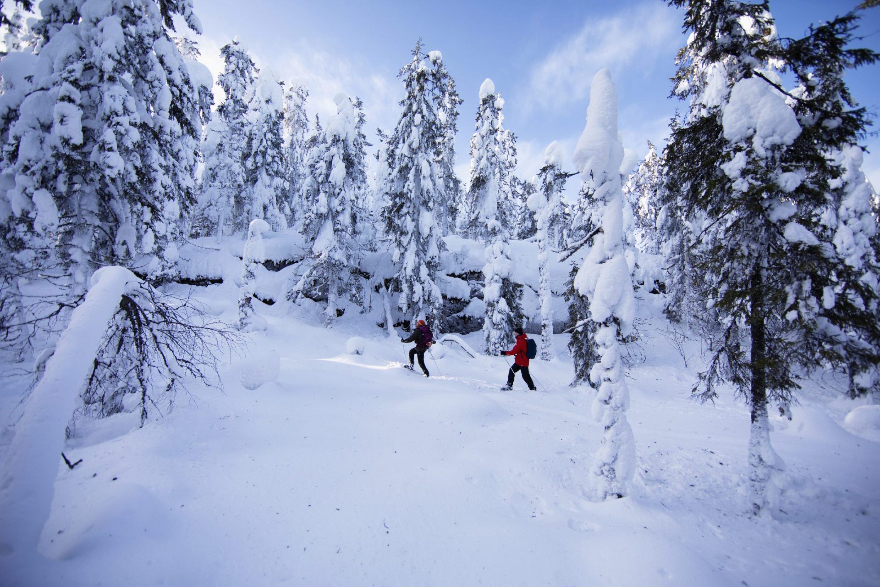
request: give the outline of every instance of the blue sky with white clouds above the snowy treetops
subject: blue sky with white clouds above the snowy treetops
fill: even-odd
[[[811,22],[845,12],[858,0],[771,1],[777,29],[802,34]],[[505,99],[505,127],[518,137],[517,173],[537,172],[547,144],[560,141],[570,157],[583,129],[596,71],[607,67],[620,97],[620,130],[640,155],[646,141],[662,143],[671,115],[669,77],[684,44],[681,17],[661,0],[644,2],[401,3],[251,2],[194,0],[204,33],[202,61],[222,68],[219,48],[238,35],[258,66],[309,89],[309,113],[335,111],[333,97],[363,99],[368,127],[392,128],[403,95],[397,71],[415,41],[439,50],[465,103],[458,119],[457,169],[468,167],[468,140],[480,84],[487,77]],[[862,46],[880,51],[880,8],[862,12]],[[851,72],[847,81],[864,106],[880,114],[880,66]],[[372,134],[372,133],[370,133]],[[869,137],[865,170],[880,186],[880,139]]]

